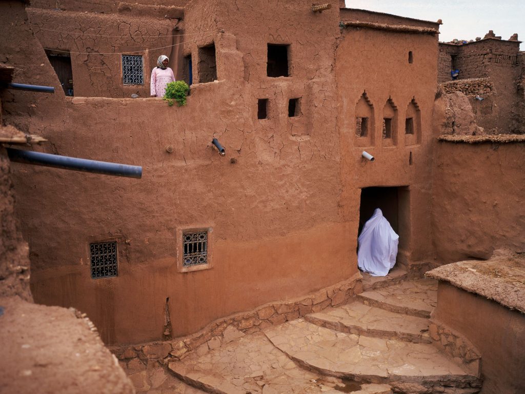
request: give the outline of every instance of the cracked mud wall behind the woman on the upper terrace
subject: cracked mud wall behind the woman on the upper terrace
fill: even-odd
[[[42,47],[70,54],[75,96],[149,97],[151,70],[160,55],[170,57],[176,78],[182,76],[177,50],[185,39],[178,26],[183,13],[171,15],[168,7],[160,10],[166,17],[127,11],[131,9],[100,14],[28,8],[27,15]],[[144,84],[122,84],[121,53],[143,56]],[[64,95],[58,77],[52,85],[60,90],[56,94]]]

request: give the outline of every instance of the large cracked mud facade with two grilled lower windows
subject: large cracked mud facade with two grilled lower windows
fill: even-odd
[[[270,2],[251,13],[229,9],[226,25],[214,11],[201,3],[187,10],[186,23],[213,29],[219,81],[192,86],[185,107],[150,98],[6,96],[6,121],[49,139],[44,151],[143,167],[142,179],[130,180],[14,164],[35,300],[86,312],[109,344],[162,338],[167,298],[177,337],[357,273],[356,221],[342,219],[339,206],[337,13],[313,14],[306,1]],[[254,17],[261,12],[268,17]],[[311,36],[297,34],[298,23],[315,26]],[[262,34],[267,26],[274,33]],[[2,37],[13,35],[29,44],[23,55],[8,47],[10,64],[33,59],[19,67],[20,80],[54,81],[27,27]],[[199,39],[192,53],[210,42]],[[268,42],[290,44],[290,77],[266,77]],[[301,115],[288,118],[295,97]],[[268,119],[257,119],[258,98],[270,101]],[[214,137],[226,157],[211,147]],[[177,272],[176,231],[188,227],[212,227],[211,269]],[[119,276],[93,280],[89,243],[108,240],[118,243]]]

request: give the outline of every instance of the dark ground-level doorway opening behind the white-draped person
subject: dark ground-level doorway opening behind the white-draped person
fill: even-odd
[[[381,209],[392,229],[399,235],[398,250],[409,247],[410,192],[408,186],[373,186],[361,189],[359,232],[376,208]]]

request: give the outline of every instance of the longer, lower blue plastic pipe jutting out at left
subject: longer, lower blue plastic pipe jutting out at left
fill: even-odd
[[[60,156],[58,154],[40,153],[13,148],[7,148],[7,154],[11,161],[17,163],[43,165],[44,167],[61,168],[64,170],[93,172],[96,174],[114,175],[116,177],[142,177],[142,167],[139,165],[78,159],[75,157]]]

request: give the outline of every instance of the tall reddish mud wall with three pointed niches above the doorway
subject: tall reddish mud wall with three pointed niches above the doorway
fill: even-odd
[[[359,217],[361,188],[408,186],[405,203],[409,209],[400,216],[398,260],[431,259],[427,242],[430,226],[424,218],[429,214],[430,205],[429,157],[437,80],[437,37],[353,26],[343,28],[342,35],[336,52],[341,214],[345,220],[355,223]],[[412,51],[412,64],[408,60],[409,51]],[[387,66],[385,59],[388,59]],[[368,103],[361,99],[363,93]],[[383,118],[390,117],[386,112],[391,111],[385,110],[389,98],[397,115],[392,120],[393,137],[384,139]],[[420,123],[414,135],[405,134],[405,119],[413,116],[408,115],[413,110],[410,109],[412,100],[418,107]],[[373,126],[366,138],[356,136],[356,118],[363,111],[362,106],[369,109],[373,106],[373,115],[370,115]],[[372,154],[375,161],[363,159],[363,150]],[[351,230],[352,248],[355,248],[358,226],[354,224]]]

